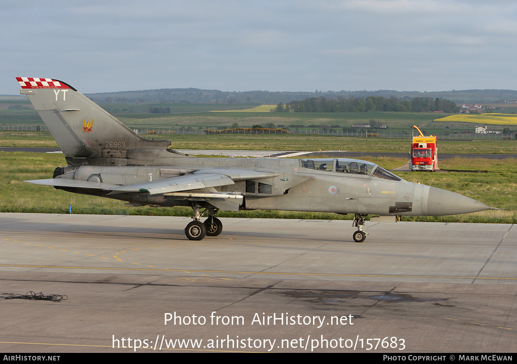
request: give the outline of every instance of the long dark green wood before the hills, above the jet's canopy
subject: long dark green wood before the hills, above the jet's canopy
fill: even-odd
[[[457,113],[458,107],[454,102],[442,98],[397,99],[396,97],[368,96],[367,98],[327,99],[321,97],[294,100],[286,104],[280,102],[272,111],[276,113],[361,113],[371,111]]]

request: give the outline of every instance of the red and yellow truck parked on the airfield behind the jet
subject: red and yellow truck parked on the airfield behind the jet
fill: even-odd
[[[439,169],[436,135],[423,136],[420,129],[418,129],[415,125],[413,125],[413,128],[418,130],[420,135],[413,137],[409,169],[428,170],[434,172],[436,169]]]

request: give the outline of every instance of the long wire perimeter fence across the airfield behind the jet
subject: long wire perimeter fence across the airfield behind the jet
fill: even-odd
[[[3,131],[27,131],[27,132],[48,132],[47,126],[38,124],[2,124],[0,130]],[[138,128],[133,129],[140,135],[206,135],[206,128]],[[414,135],[405,132],[388,132],[388,131],[342,131],[332,129],[315,129],[315,128],[299,128],[290,129],[290,134],[305,134],[305,135],[333,135],[333,136],[354,136],[354,137],[377,137],[377,138],[412,138]],[[248,134],[248,132],[233,131],[231,129],[223,130],[218,134]],[[256,132],[249,134],[257,134]],[[258,134],[281,134],[280,132],[271,130],[262,130]],[[515,138],[515,133],[512,134],[478,134],[478,133],[437,133],[438,140],[505,140]]]

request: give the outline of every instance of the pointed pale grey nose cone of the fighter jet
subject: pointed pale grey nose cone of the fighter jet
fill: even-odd
[[[427,203],[427,215],[468,214],[493,209],[489,205],[472,198],[459,195],[445,189],[430,187]]]

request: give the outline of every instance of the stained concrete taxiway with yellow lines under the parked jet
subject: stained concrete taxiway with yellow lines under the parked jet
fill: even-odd
[[[221,220],[0,214],[1,292],[68,296],[0,300],[0,351],[515,351],[513,225]]]

